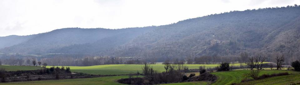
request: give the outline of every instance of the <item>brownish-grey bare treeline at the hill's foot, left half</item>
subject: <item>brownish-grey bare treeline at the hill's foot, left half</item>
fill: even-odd
[[[25,57],[9,59],[0,59],[0,65],[28,65],[28,66],[92,66],[92,65],[105,65],[105,64],[143,64],[146,59],[139,57],[52,57],[52,58],[40,58],[37,57]],[[152,62],[150,64],[155,64]]]

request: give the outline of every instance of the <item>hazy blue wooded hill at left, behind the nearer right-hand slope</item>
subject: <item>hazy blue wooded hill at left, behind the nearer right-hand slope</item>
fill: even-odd
[[[81,29],[64,28],[38,34],[22,43],[7,46],[0,51],[4,53],[45,54],[45,53],[91,53],[92,51],[112,48],[126,43],[152,27],[127,29]],[[5,43],[11,41],[5,41]],[[13,41],[12,41],[13,42]],[[2,44],[2,43],[1,43]],[[99,48],[98,48],[99,47]]]

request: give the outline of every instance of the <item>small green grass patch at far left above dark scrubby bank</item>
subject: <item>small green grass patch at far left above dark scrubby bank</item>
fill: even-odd
[[[0,65],[0,68],[4,68],[6,71],[42,69],[42,67],[39,66],[11,66],[11,65]]]

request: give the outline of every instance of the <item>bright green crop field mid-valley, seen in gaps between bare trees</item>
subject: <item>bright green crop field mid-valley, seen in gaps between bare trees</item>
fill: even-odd
[[[218,64],[185,64],[189,69],[198,69],[199,66],[205,66],[206,68],[214,68]],[[233,64],[239,66],[240,64]],[[150,65],[159,72],[165,71],[163,64]],[[50,68],[52,66],[47,66]],[[59,66],[60,67],[60,66]],[[96,66],[70,66],[72,72],[80,72],[87,74],[103,74],[103,75],[118,75],[142,72],[143,65],[136,64],[114,64],[114,65],[96,65]]]

